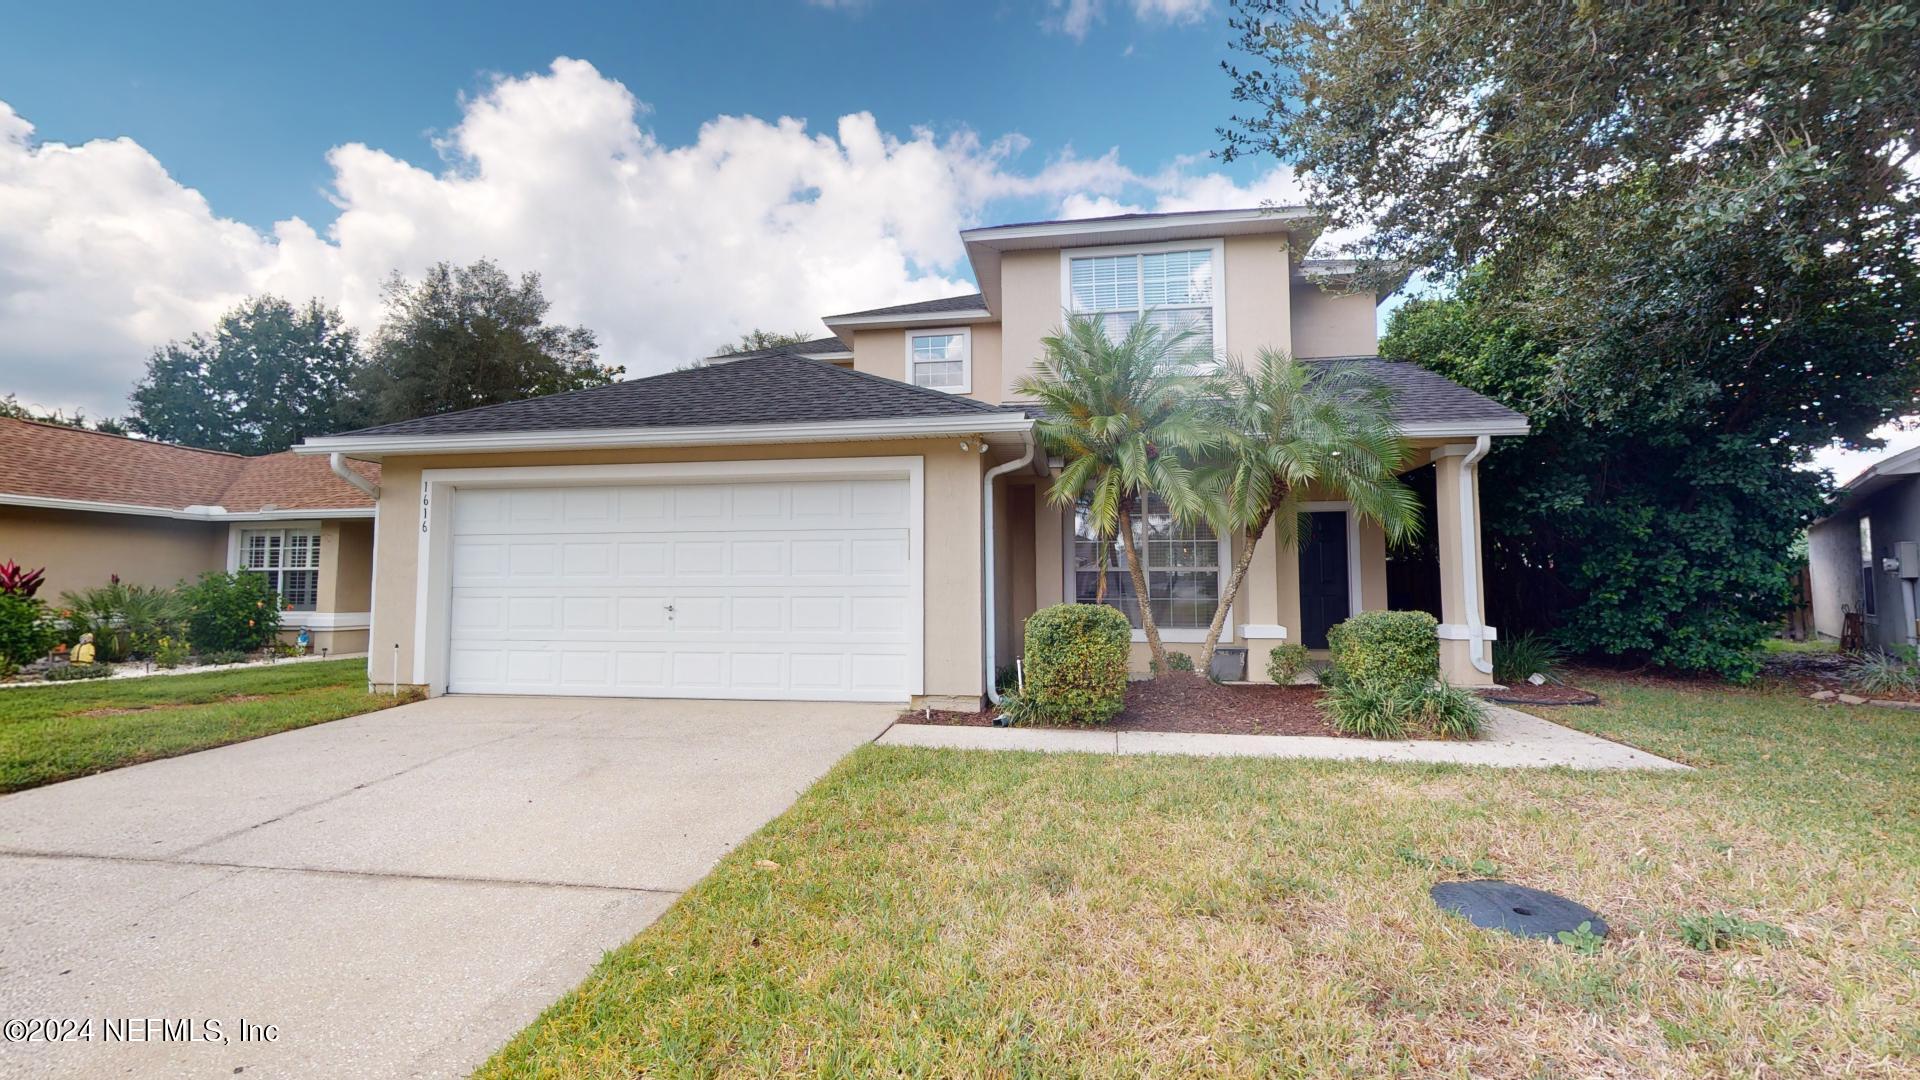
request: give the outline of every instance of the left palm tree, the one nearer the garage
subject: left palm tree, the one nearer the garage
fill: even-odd
[[[1167,655],[1148,601],[1135,515],[1152,492],[1175,519],[1208,517],[1192,457],[1219,440],[1194,394],[1200,357],[1188,342],[1190,334],[1167,334],[1148,317],[1116,342],[1098,317],[1073,315],[1041,340],[1037,373],[1016,386],[1041,404],[1046,415],[1035,429],[1048,452],[1066,459],[1046,498],[1054,505],[1085,498],[1094,536],[1112,542],[1119,534],[1156,673],[1165,671]],[[1100,580],[1104,586],[1104,563]]]

